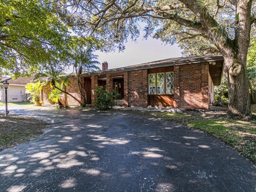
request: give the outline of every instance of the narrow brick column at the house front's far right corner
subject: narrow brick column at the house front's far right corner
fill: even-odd
[[[202,90],[202,109],[209,109],[209,65],[202,63],[201,90]]]

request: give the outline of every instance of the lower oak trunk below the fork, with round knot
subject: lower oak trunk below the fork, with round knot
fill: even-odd
[[[251,117],[251,95],[246,61],[225,57],[225,73],[228,79],[228,115]],[[242,62],[241,62],[242,61]]]

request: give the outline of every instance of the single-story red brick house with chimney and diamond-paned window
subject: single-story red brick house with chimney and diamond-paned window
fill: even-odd
[[[102,63],[102,70],[84,73],[81,81],[86,87],[87,103],[93,105],[94,90],[98,85],[115,89],[119,104],[130,107],[171,106],[186,109],[209,109],[214,100],[213,85],[221,82],[222,56],[182,57],[142,63],[128,67],[108,69]],[[82,100],[77,86],[77,77],[70,76],[67,91]],[[43,103],[47,103],[42,90]],[[65,105],[78,105],[66,95]]]

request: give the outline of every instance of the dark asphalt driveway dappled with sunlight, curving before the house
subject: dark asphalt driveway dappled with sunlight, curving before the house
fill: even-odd
[[[185,126],[123,112],[19,109],[48,131],[0,153],[0,191],[256,191],[256,169]]]

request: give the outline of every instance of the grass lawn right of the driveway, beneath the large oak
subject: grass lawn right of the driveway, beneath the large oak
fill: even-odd
[[[256,115],[256,105],[252,113]],[[242,121],[229,119],[225,111],[210,111],[206,113],[166,113],[155,111],[141,111],[146,115],[161,117],[168,121],[193,127],[236,149],[241,155],[256,165],[256,121]]]

